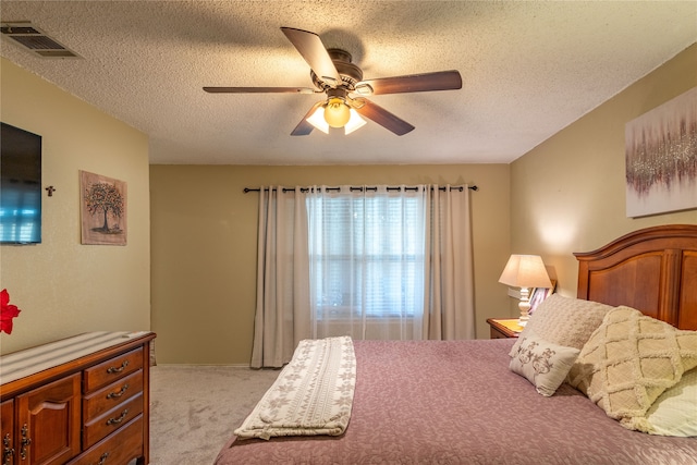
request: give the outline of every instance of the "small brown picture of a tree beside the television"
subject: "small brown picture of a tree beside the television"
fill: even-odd
[[[80,172],[82,243],[126,245],[126,183]]]

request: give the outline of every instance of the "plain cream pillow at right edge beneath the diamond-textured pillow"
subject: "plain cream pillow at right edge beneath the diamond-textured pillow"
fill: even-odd
[[[697,368],[683,374],[646,413],[651,435],[697,437]]]

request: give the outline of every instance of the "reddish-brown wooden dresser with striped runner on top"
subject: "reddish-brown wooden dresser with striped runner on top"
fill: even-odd
[[[147,465],[154,338],[90,332],[0,357],[2,465]]]

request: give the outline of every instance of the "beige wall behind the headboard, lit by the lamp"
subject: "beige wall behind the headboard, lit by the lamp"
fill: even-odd
[[[697,86],[697,45],[512,163],[512,253],[539,254],[575,296],[573,252],[589,252],[631,231],[697,223],[697,210],[632,219],[625,213],[624,127]]]

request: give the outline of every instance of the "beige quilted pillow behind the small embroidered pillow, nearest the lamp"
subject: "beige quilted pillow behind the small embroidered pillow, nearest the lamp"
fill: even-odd
[[[598,302],[552,294],[530,316],[510,355],[517,353],[519,342],[529,331],[553,344],[582,350],[612,308]]]

